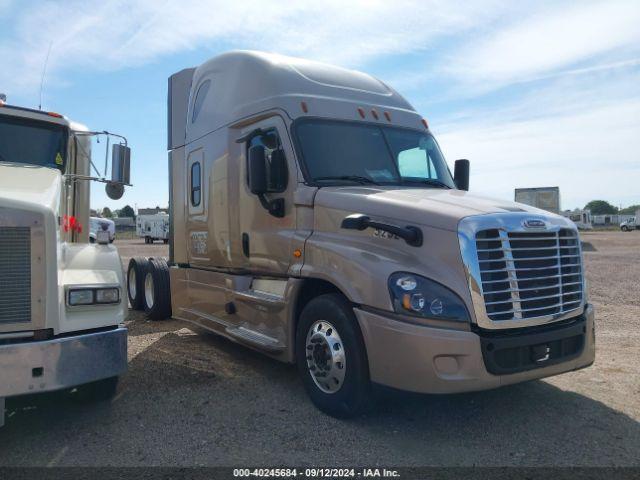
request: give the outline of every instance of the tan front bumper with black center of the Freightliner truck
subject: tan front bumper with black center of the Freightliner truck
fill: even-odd
[[[355,313],[367,349],[371,380],[401,390],[420,393],[487,390],[584,368],[595,359],[591,305],[582,315],[579,328],[582,344],[575,350],[571,350],[575,345],[565,340],[577,335],[571,327],[559,327],[555,336],[553,333],[541,336],[539,332],[523,332],[507,338],[494,333],[494,337],[487,340],[475,332],[414,325],[360,309]],[[496,359],[487,352],[491,341],[496,351],[505,352],[502,357]],[[567,346],[567,342],[571,345]],[[524,347],[539,345],[545,348],[548,345],[550,356],[532,366],[528,353],[523,353],[529,350]],[[514,350],[509,351],[509,348]],[[557,354],[559,349],[563,352],[561,358]],[[519,366],[513,367],[509,363],[511,357],[520,362]],[[502,373],[508,372],[509,367],[516,373]]]

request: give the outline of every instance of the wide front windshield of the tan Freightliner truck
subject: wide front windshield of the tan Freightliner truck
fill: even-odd
[[[428,132],[327,120],[295,126],[307,181],[455,188],[438,144]]]

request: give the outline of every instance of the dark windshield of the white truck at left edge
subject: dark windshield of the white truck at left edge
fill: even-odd
[[[0,162],[57,168],[64,173],[66,139],[62,125],[0,115]]]

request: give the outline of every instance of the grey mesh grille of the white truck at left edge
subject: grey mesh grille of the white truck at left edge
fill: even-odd
[[[31,321],[31,229],[0,227],[0,324]]]

